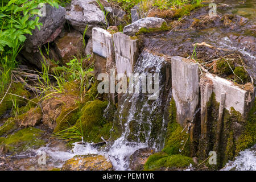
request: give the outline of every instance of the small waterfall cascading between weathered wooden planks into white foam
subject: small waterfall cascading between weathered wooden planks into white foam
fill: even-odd
[[[114,124],[122,130],[121,137],[109,147],[108,157],[117,170],[129,169],[129,156],[139,148],[163,148],[168,122],[168,103],[171,98],[171,85],[164,88],[164,57],[143,51],[134,73],[160,73],[159,97],[149,100],[148,94],[124,94],[114,118]]]

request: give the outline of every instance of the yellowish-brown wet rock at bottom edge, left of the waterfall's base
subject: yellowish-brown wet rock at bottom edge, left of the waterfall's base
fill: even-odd
[[[112,171],[112,163],[104,156],[89,154],[78,155],[67,160],[62,167],[63,171]]]

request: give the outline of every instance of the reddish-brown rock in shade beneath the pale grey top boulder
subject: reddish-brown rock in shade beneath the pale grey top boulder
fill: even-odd
[[[82,34],[79,31],[72,31],[65,32],[62,37],[54,41],[56,51],[63,60],[63,63],[67,63],[73,56],[79,58],[83,55],[84,45],[82,39]]]

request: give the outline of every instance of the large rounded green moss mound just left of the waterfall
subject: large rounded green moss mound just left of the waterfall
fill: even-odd
[[[102,142],[101,137],[109,139],[113,122],[107,122],[104,110],[108,106],[107,101],[89,101],[82,107],[81,117],[75,127],[82,129],[86,142]]]

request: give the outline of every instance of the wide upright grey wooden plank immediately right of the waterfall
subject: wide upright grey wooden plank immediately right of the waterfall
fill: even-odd
[[[177,108],[177,122],[185,127],[193,122],[199,106],[199,68],[191,60],[174,56],[172,61],[172,96]]]

